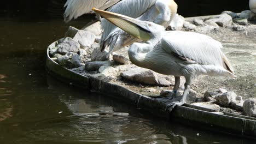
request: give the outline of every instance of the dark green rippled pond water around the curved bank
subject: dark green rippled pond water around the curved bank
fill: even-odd
[[[85,22],[69,25],[80,28]],[[173,124],[123,101],[88,93],[48,76],[46,47],[62,38],[67,27],[61,20],[0,20],[1,144],[254,143]],[[86,116],[109,109],[130,116]]]

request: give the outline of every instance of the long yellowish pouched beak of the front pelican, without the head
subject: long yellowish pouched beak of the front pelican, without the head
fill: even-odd
[[[97,14],[107,19],[109,22],[113,23],[115,26],[123,29],[125,32],[131,34],[133,37],[142,40],[150,39],[150,30],[147,27],[147,23],[133,19],[132,17],[112,13],[109,11],[99,10],[92,8]]]

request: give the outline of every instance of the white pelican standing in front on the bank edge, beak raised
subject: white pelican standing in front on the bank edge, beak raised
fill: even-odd
[[[93,10],[133,37],[144,40],[130,46],[130,61],[138,67],[173,75],[173,94],[178,91],[180,77],[185,77],[182,99],[171,103],[173,107],[185,103],[191,83],[201,74],[236,77],[229,59],[220,50],[222,44],[207,35],[165,31],[163,26],[153,22],[95,8]]]

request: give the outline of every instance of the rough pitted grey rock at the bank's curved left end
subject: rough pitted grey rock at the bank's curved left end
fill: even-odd
[[[62,43],[57,44],[56,47],[58,47],[57,52],[62,55],[66,55],[68,52],[77,53],[80,49],[79,43],[69,37],[65,38]]]

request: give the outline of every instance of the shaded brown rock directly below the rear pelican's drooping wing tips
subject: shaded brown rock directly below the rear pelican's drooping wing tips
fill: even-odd
[[[91,61],[106,61],[108,57],[108,51],[104,50],[101,52],[100,47],[97,47],[91,53]]]

